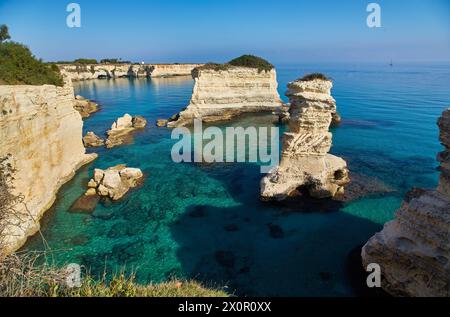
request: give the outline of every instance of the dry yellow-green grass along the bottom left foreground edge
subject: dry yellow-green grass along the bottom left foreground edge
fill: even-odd
[[[81,286],[67,286],[67,273],[49,265],[37,265],[35,253],[4,256],[0,260],[0,297],[228,297],[225,291],[206,288],[195,281],[172,280],[140,285],[135,275],[124,273],[106,279],[83,274]]]

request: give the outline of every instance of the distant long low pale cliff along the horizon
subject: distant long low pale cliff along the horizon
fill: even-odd
[[[90,80],[98,78],[123,78],[123,77],[169,77],[190,76],[195,67],[200,64],[91,64],[91,65],[59,65],[61,73],[68,78]]]

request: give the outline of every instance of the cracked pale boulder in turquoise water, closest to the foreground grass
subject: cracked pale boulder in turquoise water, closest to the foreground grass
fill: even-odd
[[[119,200],[131,189],[139,185],[144,174],[138,168],[117,165],[107,170],[95,169],[94,178],[88,183],[86,196],[99,195]]]

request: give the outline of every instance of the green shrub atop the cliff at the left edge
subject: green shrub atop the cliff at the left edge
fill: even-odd
[[[24,45],[0,43],[0,83],[6,85],[56,85],[64,81],[56,65],[36,59]]]

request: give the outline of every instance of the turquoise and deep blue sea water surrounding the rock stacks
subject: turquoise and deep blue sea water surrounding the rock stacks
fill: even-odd
[[[172,162],[175,141],[153,122],[187,105],[189,77],[82,82],[76,92],[102,105],[85,132],[102,135],[124,113],[150,124],[131,145],[96,150],[99,159],[60,191],[43,219],[54,259],[98,275],[126,267],[143,283],[194,278],[238,295],[360,295],[352,251],[392,219],[411,187],[437,184],[436,120],[450,106],[450,65],[279,66],[280,94],[288,81],[316,71],[334,79],[344,119],[333,131],[332,152],[391,191],[327,208],[262,203],[256,164]],[[119,163],[141,168],[144,185],[93,214],[69,211],[94,168]],[[26,248],[42,249],[41,238]]]

